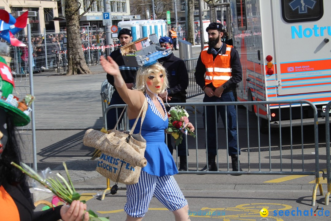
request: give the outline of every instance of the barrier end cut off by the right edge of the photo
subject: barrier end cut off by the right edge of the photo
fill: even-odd
[[[331,108],[331,101],[325,107],[326,177],[327,177],[327,189],[328,189],[328,192],[325,194],[325,205],[329,205],[329,197],[331,193],[330,113],[329,113],[330,108]]]

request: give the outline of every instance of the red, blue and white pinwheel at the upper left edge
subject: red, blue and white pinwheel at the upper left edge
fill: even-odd
[[[0,37],[5,39],[13,46],[26,46],[19,41],[14,35],[25,28],[27,20],[27,11],[15,19],[7,11],[0,9]]]

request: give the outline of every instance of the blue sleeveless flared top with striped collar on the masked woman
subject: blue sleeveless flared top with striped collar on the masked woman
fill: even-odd
[[[145,158],[147,166],[143,167],[142,170],[159,177],[177,174],[175,161],[165,143],[165,129],[168,127],[168,116],[166,114],[165,117],[162,117],[149,95],[145,93],[145,96],[149,105],[141,127],[141,136],[146,139]],[[166,108],[159,98],[158,100],[166,113]],[[129,120],[130,126],[134,124],[135,120]],[[138,119],[134,134],[139,133],[140,122],[141,118]]]

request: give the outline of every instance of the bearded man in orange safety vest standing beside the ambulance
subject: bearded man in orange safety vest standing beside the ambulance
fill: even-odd
[[[226,45],[221,41],[221,37],[223,36],[222,28],[222,24],[215,22],[206,28],[209,39],[208,46],[200,53],[197,61],[195,78],[196,83],[205,92],[203,102],[235,101],[232,88],[235,87],[236,83],[242,81],[239,54],[232,46]],[[228,153],[232,160],[232,171],[242,171],[240,163],[238,163],[240,149],[237,146],[235,106],[216,106],[216,111],[217,118],[215,119],[214,106],[207,106],[206,108],[208,165],[201,171],[207,171],[207,168],[209,171],[217,170],[215,163],[217,127],[215,127],[215,122],[218,122],[219,115],[221,116],[224,127],[227,123]],[[225,116],[225,113],[227,116]]]

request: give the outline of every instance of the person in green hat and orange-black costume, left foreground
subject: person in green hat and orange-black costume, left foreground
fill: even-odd
[[[1,43],[0,43],[1,44]],[[0,51],[3,45],[0,45]],[[6,46],[7,47],[7,46]],[[86,204],[75,200],[71,205],[61,205],[34,212],[25,175],[10,163],[21,162],[21,150],[15,137],[15,126],[30,122],[29,111],[18,108],[18,98],[13,96],[13,76],[6,61],[0,56],[0,220],[10,221],[87,221]],[[28,102],[33,99],[31,96]],[[84,215],[84,218],[83,218]]]

